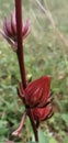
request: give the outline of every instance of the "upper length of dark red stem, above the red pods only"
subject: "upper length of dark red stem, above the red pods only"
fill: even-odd
[[[26,88],[26,76],[24,67],[24,54],[23,54],[23,36],[22,36],[22,0],[15,0],[15,16],[16,16],[16,31],[18,31],[18,59],[20,65],[22,86]]]

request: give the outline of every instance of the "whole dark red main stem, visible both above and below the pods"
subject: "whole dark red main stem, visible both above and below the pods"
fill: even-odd
[[[21,72],[21,78],[22,78],[22,86],[23,89],[26,88],[26,76],[25,76],[25,66],[24,66],[24,53],[23,53],[23,45],[22,45],[22,0],[15,0],[15,16],[16,16],[16,31],[18,31],[18,59],[19,59],[19,65],[20,65],[20,72]],[[37,135],[37,129],[34,123],[33,117],[31,109],[27,111],[27,116],[30,117],[34,135],[35,135],[35,141],[38,142],[38,135]]]

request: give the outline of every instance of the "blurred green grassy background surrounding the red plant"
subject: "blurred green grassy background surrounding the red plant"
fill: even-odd
[[[14,1],[0,0],[0,29],[10,20]],[[27,79],[52,76],[54,116],[41,124],[49,143],[68,143],[68,0],[23,0],[23,21],[31,20],[24,41]],[[16,55],[0,35],[0,142],[26,142],[32,138],[29,119],[21,138],[11,135],[19,127],[24,106],[18,98],[20,70]],[[29,128],[30,127],[30,128]]]

